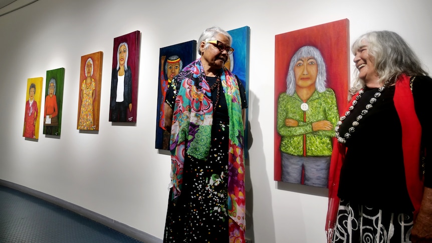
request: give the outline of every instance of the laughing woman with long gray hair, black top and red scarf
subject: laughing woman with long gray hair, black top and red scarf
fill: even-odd
[[[432,242],[432,79],[396,33],[352,45],[352,99],[336,126],[330,242]]]

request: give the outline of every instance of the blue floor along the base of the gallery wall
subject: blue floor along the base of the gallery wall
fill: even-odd
[[[139,243],[101,223],[0,185],[2,243]]]

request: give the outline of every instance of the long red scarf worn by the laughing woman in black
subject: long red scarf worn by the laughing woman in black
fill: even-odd
[[[358,93],[352,97],[348,107],[352,105],[352,101],[355,100],[357,95]],[[421,126],[415,114],[414,99],[409,87],[408,76],[402,74],[397,78],[393,101],[402,126],[402,151],[406,188],[408,189],[411,203],[414,206],[415,219],[423,197],[423,180],[419,176]],[[329,171],[329,201],[325,226],[328,242],[332,240],[336,224],[339,207],[337,191],[339,188],[340,169],[345,160],[345,152],[345,145],[336,141],[336,144],[333,146]]]

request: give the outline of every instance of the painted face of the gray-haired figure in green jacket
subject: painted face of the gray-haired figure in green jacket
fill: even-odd
[[[294,66],[296,86],[306,88],[315,86],[318,75],[318,64],[314,57],[303,57]]]

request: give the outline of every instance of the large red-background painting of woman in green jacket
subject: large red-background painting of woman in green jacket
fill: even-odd
[[[347,19],[275,37],[274,179],[327,187],[334,127],[347,104]]]

